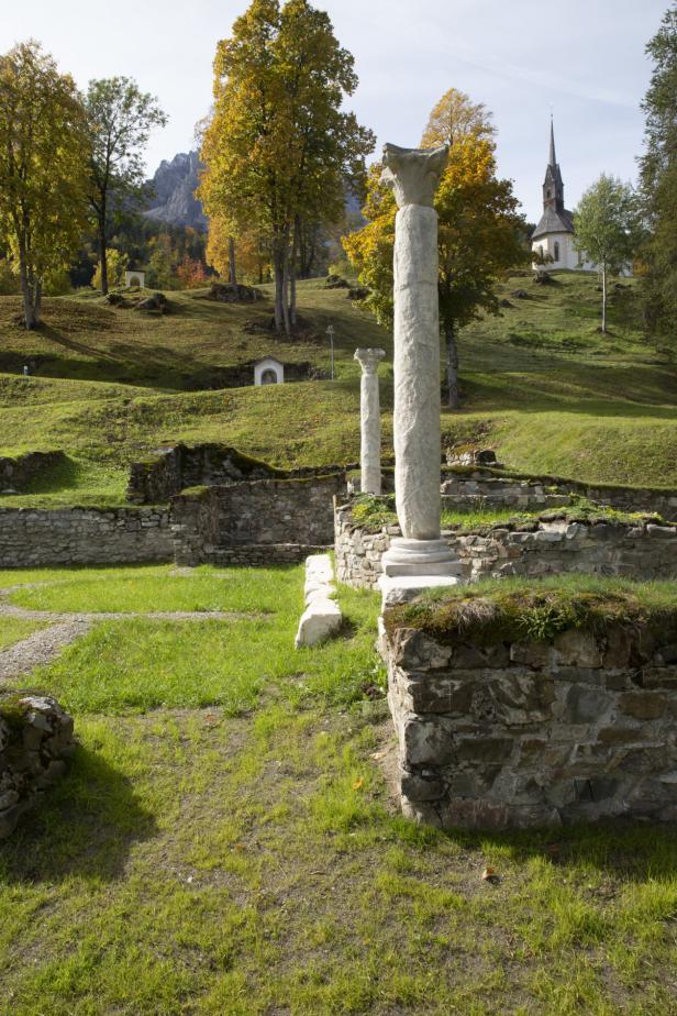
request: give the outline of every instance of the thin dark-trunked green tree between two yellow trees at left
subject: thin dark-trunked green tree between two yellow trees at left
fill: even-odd
[[[91,137],[89,205],[97,228],[101,291],[108,292],[108,244],[116,216],[144,195],[144,152],[151,132],[167,122],[152,95],[125,77],[89,82],[86,97]]]

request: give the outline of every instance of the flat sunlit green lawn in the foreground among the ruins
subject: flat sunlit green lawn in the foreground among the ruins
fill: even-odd
[[[58,585],[24,593],[79,608],[93,571],[36,571],[24,577]],[[107,609],[125,609],[131,582],[141,609],[153,585],[176,606],[186,582],[206,604],[251,583],[262,619],[103,621],[31,676],[73,709],[80,747],[0,851],[0,1011],[674,1011],[673,830],[440,833],[401,818],[376,595],[341,589],[340,637],[296,653],[300,567],[258,584],[96,571]]]

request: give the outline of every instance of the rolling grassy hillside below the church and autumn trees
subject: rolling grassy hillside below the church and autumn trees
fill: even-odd
[[[643,338],[633,289],[613,291],[611,332],[598,331],[595,276],[529,275],[502,287],[501,317],[460,340],[460,412],[443,412],[446,443],[477,441],[513,468],[586,481],[677,487],[677,372]],[[514,296],[523,290],[526,297]],[[173,312],[142,316],[99,298],[54,299],[27,334],[19,303],[0,298],[0,451],[60,448],[70,463],[31,496],[0,504],[118,503],[130,461],[176,440],[223,441],[278,465],[358,457],[357,345],[381,345],[384,450],[391,446],[392,343],[345,290],[302,283],[298,339],[270,331],[269,299],[218,305],[171,292]],[[269,296],[269,295],[268,295]],[[335,328],[336,379],[219,388],[220,372],[273,353],[326,377]],[[18,377],[25,362],[35,376]]]

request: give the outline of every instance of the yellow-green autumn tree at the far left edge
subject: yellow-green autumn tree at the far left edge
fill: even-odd
[[[41,320],[45,278],[67,265],[85,223],[86,117],[75,82],[36,42],[0,56],[0,239]]]

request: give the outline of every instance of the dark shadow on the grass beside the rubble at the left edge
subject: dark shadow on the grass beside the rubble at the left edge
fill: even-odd
[[[40,797],[0,852],[0,883],[113,882],[132,844],[157,832],[131,780],[78,746],[64,778]]]

